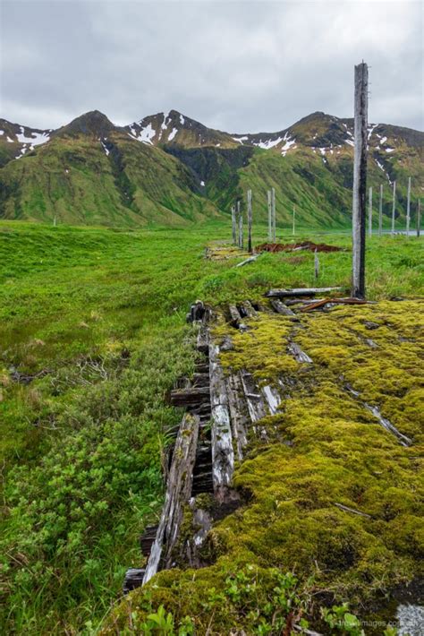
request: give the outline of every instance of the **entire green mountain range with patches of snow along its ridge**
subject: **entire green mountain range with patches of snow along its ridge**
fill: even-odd
[[[229,213],[253,191],[255,219],[344,227],[352,211],[353,121],[312,113],[277,133],[225,133],[176,110],[116,126],[98,111],[57,130],[0,120],[0,218],[108,225],[180,224]],[[383,190],[386,225],[396,180],[396,217],[412,214],[422,179],[424,133],[369,125],[369,185]],[[20,145],[21,144],[21,145]],[[1,150],[0,150],[1,152]],[[12,159],[18,160],[12,160]]]

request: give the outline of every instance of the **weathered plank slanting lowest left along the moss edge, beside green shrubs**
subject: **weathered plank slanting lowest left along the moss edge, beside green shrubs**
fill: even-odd
[[[191,497],[193,467],[199,436],[199,417],[185,415],[175,443],[173,462],[166,486],[165,503],[152,546],[143,584],[159,566],[169,568],[182,522],[183,506]]]

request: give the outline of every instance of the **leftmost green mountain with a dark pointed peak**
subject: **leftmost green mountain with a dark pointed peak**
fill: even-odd
[[[190,171],[97,111],[0,171],[0,217],[74,224],[178,225],[216,215]]]

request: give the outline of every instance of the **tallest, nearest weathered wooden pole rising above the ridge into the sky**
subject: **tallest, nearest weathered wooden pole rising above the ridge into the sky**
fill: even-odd
[[[365,297],[368,66],[355,66],[355,155],[352,201],[352,297]]]

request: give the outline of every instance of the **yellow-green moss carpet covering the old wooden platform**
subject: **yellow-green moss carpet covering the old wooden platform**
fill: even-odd
[[[305,621],[324,633],[384,632],[355,623],[343,603],[381,617],[394,589],[422,575],[421,310],[386,301],[299,323],[260,314],[233,331],[225,368],[248,369],[282,394],[262,421],[268,442],[252,433],[234,475],[248,503],[209,533],[208,567],[160,572],[115,609],[106,633],[148,633],[161,606],[175,633],[289,634]],[[290,341],[312,363],[297,362]]]

